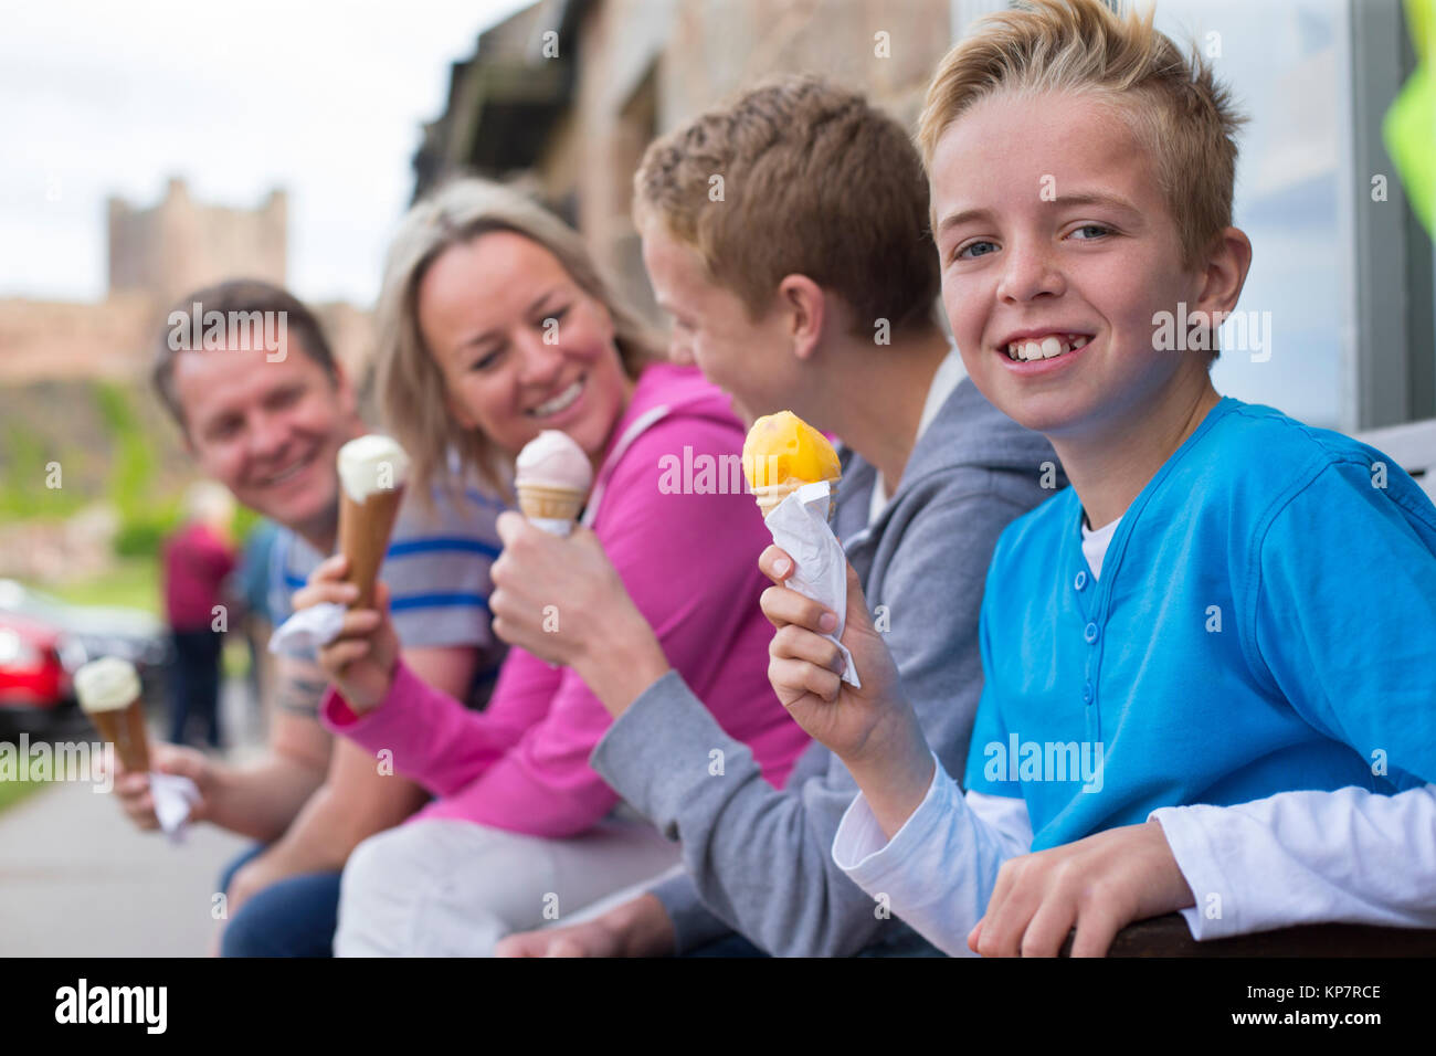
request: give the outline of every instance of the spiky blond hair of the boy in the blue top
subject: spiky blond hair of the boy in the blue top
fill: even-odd
[[[1156,167],[1193,266],[1232,223],[1238,126],[1245,121],[1202,56],[1182,56],[1153,10],[1117,14],[1101,0],[1027,0],[979,20],[928,88],[918,145],[931,165],[943,131],[998,92],[1090,92],[1120,106]]]

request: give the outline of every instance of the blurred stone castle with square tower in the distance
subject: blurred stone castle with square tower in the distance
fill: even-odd
[[[177,178],[149,208],[109,198],[105,300],[0,297],[0,385],[144,379],[165,313],[185,293],[237,277],[284,284],[287,224],[283,190],[257,208],[198,203]],[[350,376],[362,378],[373,343],[369,312],[343,302],[310,307]]]

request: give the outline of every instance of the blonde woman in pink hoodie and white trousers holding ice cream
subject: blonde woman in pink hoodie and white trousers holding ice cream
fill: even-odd
[[[626,589],[666,662],[781,786],[808,741],[767,680],[773,629],[754,556],[768,533],[741,486],[673,494],[662,476],[685,448],[695,463],[737,457],[744,430],[727,397],[692,366],[656,362],[573,230],[475,180],[404,221],[381,329],[379,391],[414,478],[471,464],[507,487],[530,440],[569,434],[595,467],[570,539],[602,549],[613,579],[553,598],[547,615],[582,621],[587,592]],[[343,557],[322,565],[296,605],[352,602],[343,570]],[[386,603],[381,588],[378,611],[350,612],[320,651],[336,684],[322,717],[438,799],[350,856],[337,955],[490,955],[504,935],[569,920],[678,861],[589,766],[622,694],[586,681],[582,661],[553,668],[514,648],[488,710],[468,713],[398,659]],[[721,797],[714,754],[672,766],[709,773]]]

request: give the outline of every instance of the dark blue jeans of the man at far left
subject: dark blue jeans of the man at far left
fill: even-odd
[[[234,874],[264,851],[257,845],[230,862],[220,878],[228,891]],[[230,918],[221,957],[333,957],[339,921],[339,874],[310,872],[264,888]]]

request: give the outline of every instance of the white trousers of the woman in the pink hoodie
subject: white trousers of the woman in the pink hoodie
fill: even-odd
[[[504,935],[669,871],[679,849],[623,809],[569,839],[426,819],[355,848],[339,891],[336,957],[493,957]]]

